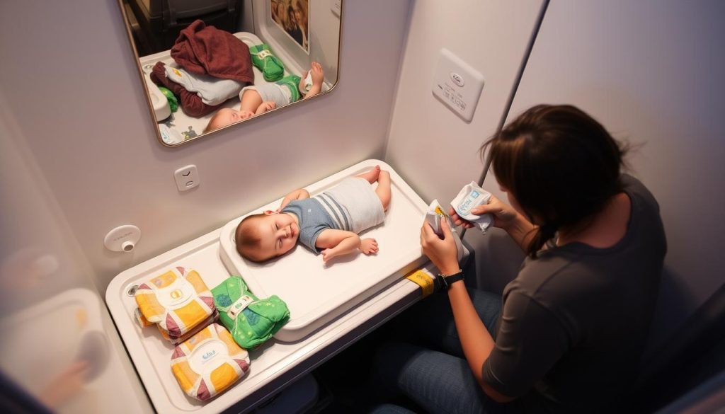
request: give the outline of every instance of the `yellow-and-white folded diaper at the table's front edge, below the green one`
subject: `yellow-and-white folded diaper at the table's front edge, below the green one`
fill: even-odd
[[[249,372],[249,354],[212,323],[174,349],[171,371],[183,392],[206,401]]]

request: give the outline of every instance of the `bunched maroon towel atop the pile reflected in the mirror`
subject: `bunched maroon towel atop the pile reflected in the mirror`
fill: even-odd
[[[171,57],[196,75],[254,83],[249,46],[231,33],[206,27],[202,20],[195,20],[181,30],[171,48]]]

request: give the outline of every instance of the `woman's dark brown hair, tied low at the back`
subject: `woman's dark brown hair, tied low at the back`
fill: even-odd
[[[571,105],[537,105],[518,115],[481,147],[497,181],[539,227],[526,252],[559,228],[584,228],[622,191],[626,148],[594,118]]]

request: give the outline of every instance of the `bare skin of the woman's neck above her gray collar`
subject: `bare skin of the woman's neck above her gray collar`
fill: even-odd
[[[558,246],[579,242],[597,249],[606,249],[617,244],[627,233],[631,215],[631,200],[625,193],[609,199],[604,210],[597,213],[584,228],[562,228],[559,230]]]

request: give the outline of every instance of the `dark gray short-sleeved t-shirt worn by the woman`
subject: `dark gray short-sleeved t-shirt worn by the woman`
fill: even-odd
[[[636,378],[667,246],[653,195],[622,181],[631,217],[621,241],[550,245],[504,289],[483,378],[524,407],[604,411]]]

